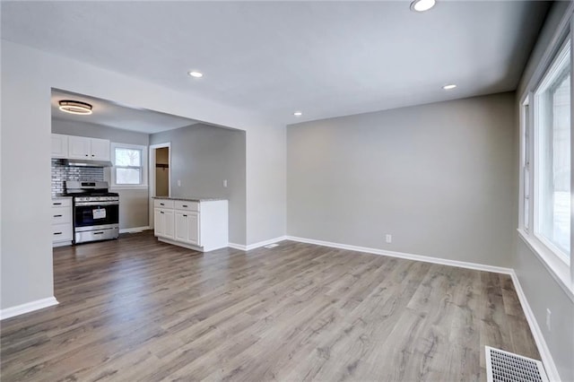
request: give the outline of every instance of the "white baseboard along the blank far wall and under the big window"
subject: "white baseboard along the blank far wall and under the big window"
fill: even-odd
[[[512,282],[514,283],[514,289],[517,291],[518,300],[520,300],[520,305],[522,306],[522,310],[526,316],[526,321],[528,321],[528,326],[530,326],[530,331],[535,338],[536,346],[538,347],[538,351],[540,352],[540,357],[542,358],[542,362],[544,364],[544,369],[546,369],[546,373],[548,374],[548,378],[551,381],[560,381],[560,375],[558,374],[558,369],[556,369],[556,364],[552,359],[552,353],[550,349],[548,349],[548,345],[546,341],[544,341],[544,335],[540,330],[540,326],[538,326],[538,322],[536,321],[536,317],[532,312],[532,308],[528,305],[528,300],[526,300],[526,294],[522,290],[522,286],[518,281],[517,273],[514,272],[512,268],[504,268],[501,266],[492,266],[492,265],[483,265],[483,264],[476,264],[476,263],[468,263],[465,261],[456,261],[456,260],[448,260],[439,257],[431,257],[431,256],[422,256],[422,255],[413,255],[407,254],[403,252],[393,252],[393,251],[386,251],[383,249],[377,248],[370,248],[370,247],[357,247],[357,246],[349,246],[346,244],[340,243],[333,243],[330,241],[322,241],[322,240],[315,240],[315,239],[305,239],[305,238],[297,238],[293,236],[287,236],[285,239],[292,240],[292,241],[299,241],[301,243],[309,243],[315,244],[317,246],[324,246],[324,247],[334,247],[340,249],[349,249],[352,251],[358,252],[365,252],[370,253],[373,255],[383,255],[383,256],[392,256],[392,257],[400,257],[409,260],[416,260],[422,261],[425,263],[432,263],[432,264],[439,264],[439,265],[452,265],[458,266],[461,268],[468,268],[474,269],[478,271],[485,271],[485,272],[494,272],[494,273],[504,273],[509,274],[512,278]]]

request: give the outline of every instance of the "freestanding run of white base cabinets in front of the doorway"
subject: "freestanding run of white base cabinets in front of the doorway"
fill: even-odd
[[[153,205],[155,236],[161,241],[202,252],[228,246],[227,200],[155,199]]]

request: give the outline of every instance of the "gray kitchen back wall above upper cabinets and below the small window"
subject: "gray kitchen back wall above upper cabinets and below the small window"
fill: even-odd
[[[71,122],[52,118],[52,133],[65,135],[89,136],[91,138],[109,139],[116,143],[149,145],[149,135],[109,126]],[[146,164],[147,168],[147,164]],[[110,169],[104,169],[104,177],[110,180]],[[117,189],[119,194],[119,228],[120,230],[147,227],[149,225],[148,188]]]

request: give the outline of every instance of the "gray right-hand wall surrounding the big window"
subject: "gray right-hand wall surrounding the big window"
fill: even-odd
[[[521,97],[525,91],[532,90],[537,82],[537,68],[547,65],[543,62],[544,51],[552,47],[552,39],[557,37],[557,29],[570,2],[555,2],[544,22],[544,28],[536,42],[535,49],[526,65],[526,70],[518,85],[517,95]],[[554,49],[555,50],[555,49]],[[515,103],[518,113],[519,106]],[[518,152],[519,126],[516,126],[516,150]],[[519,173],[518,155],[515,156],[515,169]],[[518,182],[515,184],[515,194],[518,195]],[[518,201],[517,201],[518,205]],[[516,207],[517,211],[517,207]],[[515,226],[518,226],[517,213],[515,213]],[[516,250],[510,266],[517,273],[518,280],[525,292],[528,305],[535,315],[538,326],[544,335],[544,341],[552,353],[552,359],[563,381],[574,381],[574,302],[554,280],[530,247],[514,232]],[[546,329],[546,308],[552,311],[552,331]]]

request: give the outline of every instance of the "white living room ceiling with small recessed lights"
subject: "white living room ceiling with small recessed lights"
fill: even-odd
[[[2,38],[291,124],[515,90],[548,6],[3,1]]]

